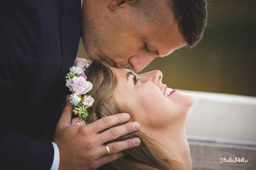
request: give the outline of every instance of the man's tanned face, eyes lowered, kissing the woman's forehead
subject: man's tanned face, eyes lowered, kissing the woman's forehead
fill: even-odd
[[[137,73],[155,57],[167,56],[186,45],[170,15],[161,14],[165,18],[159,18],[158,25],[136,24],[134,7],[128,5],[115,12],[107,7],[103,10],[103,5],[101,13],[92,17],[95,8],[82,12],[82,22],[86,22],[82,39],[91,60],[103,60],[118,68],[130,65]]]

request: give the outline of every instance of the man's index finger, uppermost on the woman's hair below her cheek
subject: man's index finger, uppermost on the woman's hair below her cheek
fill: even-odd
[[[89,126],[92,126],[91,129],[94,129],[95,133],[99,133],[100,131],[107,129],[111,126],[127,122],[129,119],[130,119],[129,114],[119,113],[119,114],[101,118],[100,120],[97,120],[97,121],[89,124]]]

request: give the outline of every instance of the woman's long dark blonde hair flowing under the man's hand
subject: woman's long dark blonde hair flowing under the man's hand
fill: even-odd
[[[92,82],[93,88],[88,93],[95,101],[92,107],[89,107],[88,118],[90,122],[94,122],[105,116],[122,113],[123,108],[118,104],[114,98],[115,89],[117,87],[117,77],[111,70],[110,65],[103,61],[92,62],[86,69],[87,80]],[[132,113],[131,120],[133,119]],[[130,121],[131,121],[130,120]],[[126,156],[115,160],[111,163],[99,167],[100,170],[171,170],[183,169],[180,162],[170,160],[161,149],[155,145],[154,141],[141,131],[136,131],[124,136],[121,136],[113,141],[123,141],[138,137],[141,140],[141,145],[135,148],[123,151]],[[110,142],[113,142],[110,141]],[[108,142],[108,143],[110,143]],[[160,155],[160,153],[162,153]]]

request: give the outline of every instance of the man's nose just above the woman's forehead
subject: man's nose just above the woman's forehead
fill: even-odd
[[[128,59],[131,69],[138,73],[144,69],[156,56],[143,55],[143,56],[132,56]]]

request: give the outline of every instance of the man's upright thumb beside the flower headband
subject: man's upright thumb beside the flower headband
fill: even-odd
[[[69,101],[69,95],[66,96],[66,106],[62,111],[61,117],[59,118],[59,124],[67,127],[71,125],[71,119],[73,114],[73,105]]]

